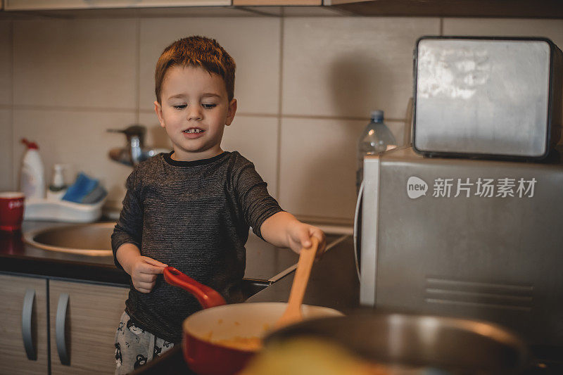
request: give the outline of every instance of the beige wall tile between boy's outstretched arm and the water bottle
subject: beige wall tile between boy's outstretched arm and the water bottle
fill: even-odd
[[[364,121],[281,122],[280,204],[293,215],[352,222],[356,143]]]

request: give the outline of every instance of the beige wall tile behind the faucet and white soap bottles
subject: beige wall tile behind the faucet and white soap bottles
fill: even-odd
[[[121,205],[125,196],[125,179],[131,167],[110,160],[111,148],[124,146],[118,134],[106,129],[119,129],[134,121],[134,112],[70,110],[14,110],[14,144],[26,137],[39,144],[45,167],[46,182],[51,182],[53,165],[68,165],[65,178],[74,182],[77,172],[100,179],[108,190],[108,205]],[[14,165],[20,165],[25,147],[13,149]],[[19,167],[14,168],[14,178]]]

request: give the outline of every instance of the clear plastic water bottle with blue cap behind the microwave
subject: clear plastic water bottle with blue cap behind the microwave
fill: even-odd
[[[358,141],[358,170],[356,172],[356,191],[364,179],[365,155],[377,155],[397,147],[395,136],[383,122],[383,110],[374,110],[371,120]]]

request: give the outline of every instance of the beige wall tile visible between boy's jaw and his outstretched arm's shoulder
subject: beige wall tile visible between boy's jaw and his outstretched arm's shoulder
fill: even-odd
[[[268,192],[277,197],[278,158],[277,117],[251,117],[237,115],[224,130],[222,148],[239,151],[254,166],[268,184]]]

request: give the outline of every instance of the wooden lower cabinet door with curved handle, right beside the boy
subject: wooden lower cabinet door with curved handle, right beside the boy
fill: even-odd
[[[49,281],[52,375],[113,374],[115,330],[128,292],[120,286]]]

